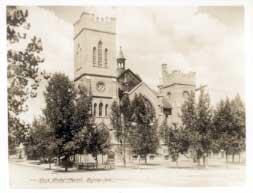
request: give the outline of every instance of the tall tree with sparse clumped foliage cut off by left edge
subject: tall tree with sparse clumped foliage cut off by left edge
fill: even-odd
[[[7,62],[8,62],[8,131],[9,150],[13,151],[16,145],[24,142],[27,130],[25,123],[20,120],[20,114],[27,110],[25,104],[29,97],[36,97],[39,86],[39,65],[42,42],[33,37],[27,45],[25,42],[30,24],[27,23],[28,11],[15,6],[7,7]],[[26,43],[26,42],[25,42]],[[14,44],[18,46],[13,46]]]

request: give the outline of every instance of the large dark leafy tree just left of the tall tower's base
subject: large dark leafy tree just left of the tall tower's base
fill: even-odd
[[[91,96],[84,87],[74,88],[64,74],[54,74],[45,92],[44,114],[57,141],[58,158],[67,171],[70,157],[88,148],[92,128]]]

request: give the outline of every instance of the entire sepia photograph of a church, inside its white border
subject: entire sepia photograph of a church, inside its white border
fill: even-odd
[[[244,186],[244,12],[6,6],[10,188]]]

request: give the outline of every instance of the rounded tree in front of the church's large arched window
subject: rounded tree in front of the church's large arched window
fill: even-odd
[[[132,124],[129,130],[129,143],[132,152],[144,156],[145,163],[147,163],[147,155],[156,153],[159,146],[154,109],[141,94],[135,95],[131,103],[131,109],[131,121],[135,124]]]

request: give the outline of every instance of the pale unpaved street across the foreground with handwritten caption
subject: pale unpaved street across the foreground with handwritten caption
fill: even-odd
[[[46,164],[26,162],[9,162],[11,188],[237,186],[245,182],[245,166],[241,164],[209,164],[207,168],[150,164],[65,173],[63,169],[49,170]]]

